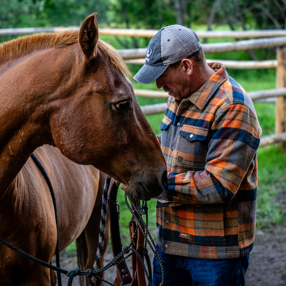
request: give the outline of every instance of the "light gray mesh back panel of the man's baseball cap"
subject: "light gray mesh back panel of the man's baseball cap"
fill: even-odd
[[[164,65],[188,57],[200,48],[194,32],[181,25],[171,25],[162,30],[161,49]]]

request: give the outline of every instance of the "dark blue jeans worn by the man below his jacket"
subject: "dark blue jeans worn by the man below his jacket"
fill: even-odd
[[[201,259],[162,253],[166,286],[244,286],[244,275],[249,265],[249,254],[233,259]],[[152,285],[162,282],[161,267],[154,257]]]

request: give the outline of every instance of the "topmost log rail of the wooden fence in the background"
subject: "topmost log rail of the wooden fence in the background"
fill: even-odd
[[[50,28],[8,28],[0,29],[0,35],[23,35],[41,32],[61,32],[66,30],[79,30],[79,27],[50,27]],[[101,35],[131,36],[152,38],[156,29],[110,29],[99,28]],[[285,29],[247,30],[247,31],[195,31],[200,38],[266,38],[286,36]]]

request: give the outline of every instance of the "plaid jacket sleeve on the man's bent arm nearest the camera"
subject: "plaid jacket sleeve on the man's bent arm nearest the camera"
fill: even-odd
[[[230,201],[254,168],[260,136],[258,120],[248,107],[234,104],[220,110],[211,126],[205,169],[169,172],[166,199],[180,202],[175,198],[184,197],[189,204]]]

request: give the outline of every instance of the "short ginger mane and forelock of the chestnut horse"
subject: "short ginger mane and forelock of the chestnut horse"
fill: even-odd
[[[61,47],[78,42],[78,31],[64,31],[55,33],[41,33],[24,36],[0,44],[0,64],[28,55],[41,49]],[[98,39],[97,47],[110,58],[112,64],[119,68],[126,76],[131,73],[116,49],[108,43]]]

